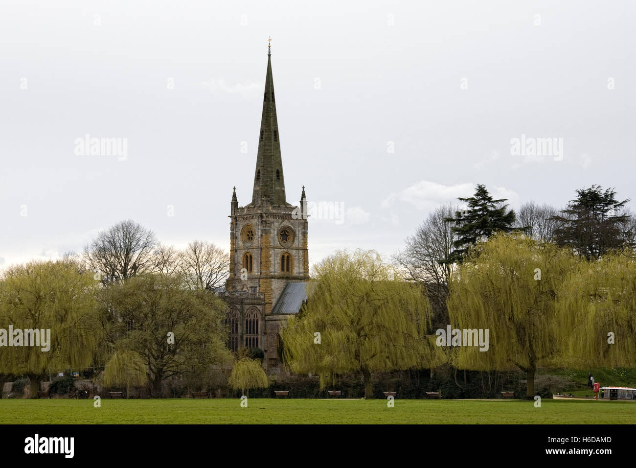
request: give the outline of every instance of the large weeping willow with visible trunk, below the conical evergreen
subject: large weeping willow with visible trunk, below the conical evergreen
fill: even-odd
[[[460,369],[521,369],[534,397],[537,366],[560,354],[556,296],[576,257],[521,234],[498,234],[478,243],[450,284],[448,315],[459,330],[488,329],[488,350],[453,349]],[[466,344],[466,343],[464,343]]]

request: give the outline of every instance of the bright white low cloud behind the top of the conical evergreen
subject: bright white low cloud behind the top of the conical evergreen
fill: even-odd
[[[406,187],[400,192],[390,194],[382,201],[382,208],[391,208],[396,202],[408,203],[417,209],[431,209],[448,202],[457,204],[459,197],[471,197],[474,194],[476,184],[467,182],[455,185],[442,185],[441,183],[420,180]],[[488,192],[495,199],[505,198],[511,204],[519,201],[519,195],[505,187],[487,187]]]

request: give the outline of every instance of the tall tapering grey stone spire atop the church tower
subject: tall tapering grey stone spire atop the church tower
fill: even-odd
[[[267,46],[263,115],[261,117],[261,131],[258,136],[258,154],[256,155],[254,192],[251,204],[252,206],[261,206],[263,199],[267,198],[270,206],[287,206],[285,179],[282,174],[282,157],[280,156],[280,135],[276,118],[271,45]]]

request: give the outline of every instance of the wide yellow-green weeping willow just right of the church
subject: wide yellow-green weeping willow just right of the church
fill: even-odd
[[[372,372],[439,364],[424,290],[400,280],[376,252],[335,253],[315,266],[315,278],[307,304],[281,334],[291,371],[319,374],[321,388],[337,374],[360,372],[372,398]]]

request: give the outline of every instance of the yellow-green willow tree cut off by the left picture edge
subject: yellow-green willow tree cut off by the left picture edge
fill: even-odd
[[[34,396],[47,372],[92,365],[102,336],[97,287],[93,273],[80,273],[72,262],[30,262],[6,270],[0,323],[11,326],[13,336],[0,332],[0,374],[26,375]],[[46,346],[26,346],[38,334]]]

